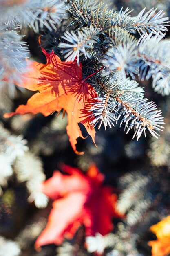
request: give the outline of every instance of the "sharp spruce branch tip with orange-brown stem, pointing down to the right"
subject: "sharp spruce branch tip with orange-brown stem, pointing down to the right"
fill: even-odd
[[[134,128],[133,138],[136,136],[137,140],[141,137],[142,132],[146,137],[146,130],[148,130],[152,136],[158,137],[159,134],[155,131],[160,131],[164,127],[162,124],[163,117],[162,112],[157,110],[157,106],[153,102],[147,102],[147,99],[143,98],[129,98],[120,97],[117,98],[118,109],[123,106],[119,114],[116,113],[117,120],[124,115],[120,126],[125,123],[125,129],[128,133],[130,129]],[[128,101],[128,103],[126,103]],[[131,122],[129,124],[129,122]]]

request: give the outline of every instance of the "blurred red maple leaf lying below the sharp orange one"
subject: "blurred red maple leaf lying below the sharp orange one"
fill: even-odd
[[[117,195],[110,186],[102,185],[102,175],[95,165],[84,175],[79,169],[64,166],[42,185],[42,192],[53,199],[53,209],[46,228],[35,242],[35,248],[55,243],[60,245],[64,236],[72,238],[80,225],[86,236],[108,234],[113,229],[112,218],[120,217],[115,210]],[[122,216],[121,216],[122,217]]]

